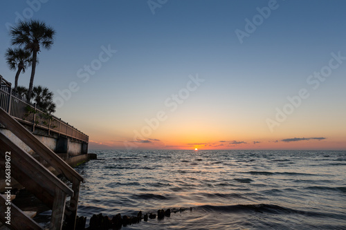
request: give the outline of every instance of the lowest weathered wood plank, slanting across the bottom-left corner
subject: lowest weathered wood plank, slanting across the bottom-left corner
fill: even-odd
[[[2,196],[0,196],[0,220],[3,223],[6,223],[6,216],[3,215],[7,211],[7,205],[6,205],[6,199],[4,199]],[[10,229],[15,230],[22,230],[22,229],[44,229],[43,227],[39,226],[37,222],[33,221],[31,218],[29,218],[23,211],[18,209],[15,204],[10,205],[10,212],[11,212],[11,222],[10,225],[5,224],[6,227],[9,227]],[[20,221],[19,221],[20,220]]]

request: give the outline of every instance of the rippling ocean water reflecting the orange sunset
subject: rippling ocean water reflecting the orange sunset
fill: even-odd
[[[346,229],[346,151],[93,153],[78,215],[188,209],[122,229]]]

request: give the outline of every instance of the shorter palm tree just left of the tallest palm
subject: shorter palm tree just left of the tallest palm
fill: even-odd
[[[31,64],[31,52],[21,48],[8,48],[6,50],[5,58],[10,70],[15,70],[18,68],[16,77],[15,77],[15,88],[17,92],[19,74],[21,72],[25,73],[26,67]]]

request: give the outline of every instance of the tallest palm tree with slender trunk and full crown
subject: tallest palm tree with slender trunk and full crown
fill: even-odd
[[[24,46],[33,54],[33,64],[31,65],[30,84],[28,88],[28,102],[30,102],[33,93],[33,84],[36,70],[37,53],[41,51],[40,47],[47,50],[53,45],[55,30],[46,26],[43,21],[30,20],[20,21],[17,26],[10,31],[12,35],[12,45]]]

